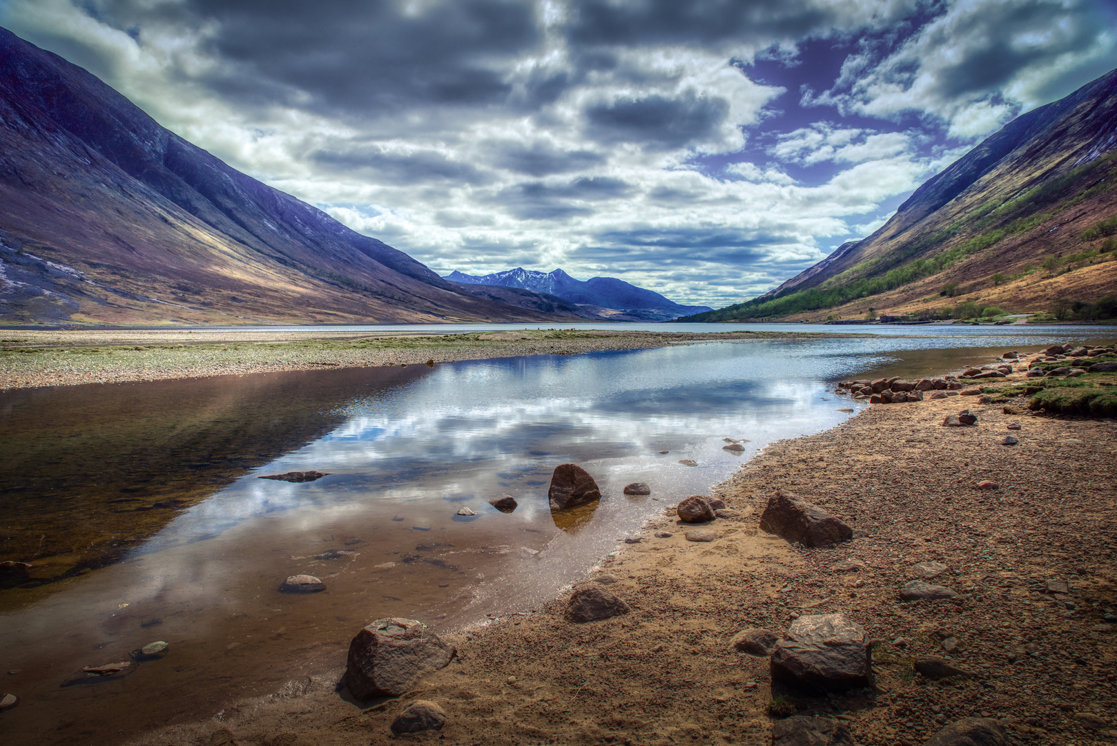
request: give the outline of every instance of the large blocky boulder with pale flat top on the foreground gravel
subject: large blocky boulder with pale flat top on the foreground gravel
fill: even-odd
[[[872,686],[870,641],[844,614],[808,614],[772,651],[772,679],[810,689],[843,691]]]

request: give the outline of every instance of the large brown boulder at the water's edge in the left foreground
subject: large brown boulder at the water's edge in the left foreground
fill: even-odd
[[[454,645],[421,622],[376,620],[350,643],[342,682],[356,699],[399,697],[414,689],[423,676],[445,668],[454,653]]]

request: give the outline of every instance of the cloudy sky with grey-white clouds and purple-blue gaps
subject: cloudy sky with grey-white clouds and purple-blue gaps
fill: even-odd
[[[0,0],[0,26],[439,274],[715,308],[1117,67],[1110,0]]]

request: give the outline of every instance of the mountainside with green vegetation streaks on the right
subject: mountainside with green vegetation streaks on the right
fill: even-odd
[[[1115,187],[1117,70],[1016,117],[868,238],[752,301],[686,320],[1117,315]]]

